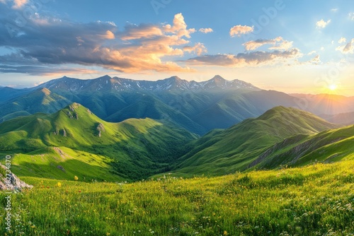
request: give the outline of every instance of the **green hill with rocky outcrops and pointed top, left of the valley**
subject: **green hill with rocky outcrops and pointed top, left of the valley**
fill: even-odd
[[[19,176],[71,179],[76,170],[82,177],[142,179],[168,171],[169,163],[194,138],[184,129],[152,119],[104,122],[77,103],[54,114],[0,124],[0,151],[19,153],[13,158]]]

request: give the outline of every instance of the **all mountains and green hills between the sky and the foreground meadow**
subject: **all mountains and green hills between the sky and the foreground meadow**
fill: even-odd
[[[0,153],[19,176],[135,181],[354,158],[353,97],[288,95],[221,76],[63,77],[0,90]]]

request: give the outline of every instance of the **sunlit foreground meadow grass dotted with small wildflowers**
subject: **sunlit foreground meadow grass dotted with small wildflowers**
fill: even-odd
[[[12,235],[354,235],[353,169],[348,160],[132,184],[72,179],[60,187],[23,177],[34,187],[12,195]]]

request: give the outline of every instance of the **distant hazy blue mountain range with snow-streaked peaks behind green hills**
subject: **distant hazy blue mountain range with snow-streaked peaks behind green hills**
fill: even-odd
[[[354,97],[288,95],[262,90],[244,81],[227,81],[221,76],[202,82],[177,76],[159,81],[110,76],[81,80],[64,76],[34,88],[0,88],[0,92],[1,122],[36,112],[50,114],[73,102],[88,107],[108,122],[163,119],[198,135],[226,129],[279,105],[307,110],[331,122],[354,122],[337,118],[354,112]]]

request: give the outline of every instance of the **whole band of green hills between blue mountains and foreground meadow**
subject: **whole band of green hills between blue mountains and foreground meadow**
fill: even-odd
[[[164,172],[226,175],[353,159],[353,138],[354,126],[290,107],[274,107],[198,138],[171,122],[149,118],[105,122],[73,103],[53,114],[0,124],[0,153],[13,156],[13,171],[20,176],[120,181]]]

